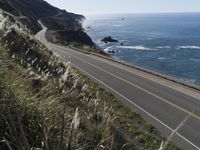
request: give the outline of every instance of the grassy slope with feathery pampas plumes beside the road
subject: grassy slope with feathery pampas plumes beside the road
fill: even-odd
[[[0,88],[0,149],[155,150],[165,141],[70,62],[16,30],[0,39]]]

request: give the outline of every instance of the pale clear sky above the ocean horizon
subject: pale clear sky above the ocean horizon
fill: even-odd
[[[69,12],[87,14],[200,12],[200,0],[46,0]]]

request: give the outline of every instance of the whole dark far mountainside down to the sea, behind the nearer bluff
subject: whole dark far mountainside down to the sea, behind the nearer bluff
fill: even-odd
[[[69,13],[48,4],[44,0],[0,0],[0,9],[15,16],[33,34],[41,30],[38,19],[48,28],[58,30],[78,30],[82,28],[84,16]]]

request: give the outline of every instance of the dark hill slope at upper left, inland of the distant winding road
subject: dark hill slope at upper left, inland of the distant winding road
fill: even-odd
[[[37,20],[58,13],[58,9],[45,1],[34,0],[0,0],[0,8],[16,16],[35,34],[41,30]]]

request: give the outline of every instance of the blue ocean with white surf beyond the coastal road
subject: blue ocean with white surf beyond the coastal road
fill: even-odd
[[[88,16],[85,28],[116,59],[200,84],[200,13]]]

